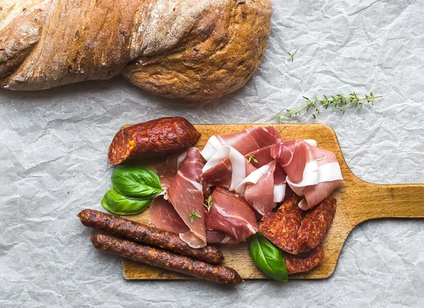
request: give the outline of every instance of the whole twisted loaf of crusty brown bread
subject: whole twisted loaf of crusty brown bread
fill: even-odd
[[[148,92],[213,100],[264,55],[270,0],[0,0],[0,84],[43,90],[122,75]]]

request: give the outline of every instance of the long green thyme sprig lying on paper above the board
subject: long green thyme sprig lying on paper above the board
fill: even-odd
[[[338,109],[342,114],[345,114],[346,108],[355,107],[358,109],[363,109],[365,102],[370,102],[371,105],[374,105],[374,100],[382,96],[375,96],[370,92],[370,94],[357,95],[355,92],[349,93],[348,96],[337,94],[337,95],[322,95],[323,98],[315,96],[313,100],[309,97],[303,96],[305,102],[295,109],[286,109],[282,114],[278,114],[277,118],[281,122],[285,122],[288,117],[300,116],[300,112],[303,109],[306,109],[308,112],[310,109],[314,109],[312,112],[312,117],[317,119],[317,115],[322,112],[322,109],[327,109],[328,107],[333,107],[333,109]]]

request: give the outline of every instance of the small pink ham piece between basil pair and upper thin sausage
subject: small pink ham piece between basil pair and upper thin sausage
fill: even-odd
[[[174,233],[185,233],[190,230],[184,220],[179,217],[172,204],[163,199],[163,196],[153,199],[149,210],[148,222],[159,229]]]

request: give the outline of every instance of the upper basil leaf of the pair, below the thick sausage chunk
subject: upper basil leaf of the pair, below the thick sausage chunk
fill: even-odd
[[[155,172],[144,167],[123,167],[112,173],[112,185],[119,194],[136,199],[152,199],[163,189]]]

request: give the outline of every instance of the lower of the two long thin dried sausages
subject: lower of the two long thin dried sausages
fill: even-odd
[[[159,266],[216,283],[238,285],[243,282],[237,271],[226,266],[198,261],[188,256],[136,244],[110,235],[94,235],[90,238],[95,248],[110,251],[112,254],[123,256],[126,259],[147,263],[151,266]]]

